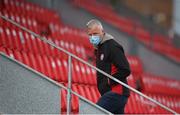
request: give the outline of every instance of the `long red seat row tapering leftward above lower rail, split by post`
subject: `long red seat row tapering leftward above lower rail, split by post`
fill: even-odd
[[[58,82],[68,81],[68,61],[59,57],[33,54],[31,52],[2,48],[1,51],[10,57],[26,64]],[[96,85],[96,72],[76,60],[72,60],[72,82]]]

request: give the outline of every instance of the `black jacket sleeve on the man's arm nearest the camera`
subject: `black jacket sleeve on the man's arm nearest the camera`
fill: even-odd
[[[124,80],[130,75],[129,63],[121,45],[117,43],[110,45],[110,59],[112,64],[117,68],[117,72],[113,74],[114,77]]]

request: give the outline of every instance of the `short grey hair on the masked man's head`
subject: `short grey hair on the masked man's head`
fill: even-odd
[[[87,28],[92,28],[93,26],[98,26],[100,29],[103,30],[103,26],[99,20],[92,19],[86,24]]]

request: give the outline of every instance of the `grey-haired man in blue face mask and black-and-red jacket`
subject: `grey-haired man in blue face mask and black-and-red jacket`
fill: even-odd
[[[87,33],[96,54],[96,66],[127,84],[130,74],[129,63],[124,50],[108,33],[100,21],[92,19],[87,23]],[[129,89],[97,72],[97,85],[101,98],[97,104],[114,114],[123,114],[129,97]]]

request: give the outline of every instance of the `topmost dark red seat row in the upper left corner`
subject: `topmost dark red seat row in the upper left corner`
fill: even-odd
[[[24,0],[3,0],[3,9],[20,15],[27,15],[42,23],[59,23],[59,16],[55,11],[40,7]],[[45,15],[44,15],[45,14]]]

